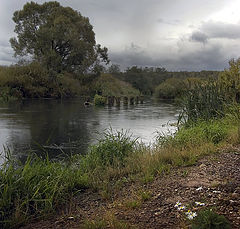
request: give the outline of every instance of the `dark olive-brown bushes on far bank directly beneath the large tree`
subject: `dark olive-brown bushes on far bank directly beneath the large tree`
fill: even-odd
[[[75,97],[84,93],[84,87],[74,74],[50,75],[37,62],[26,66],[0,68],[1,97],[21,98]],[[3,94],[4,93],[4,94]]]

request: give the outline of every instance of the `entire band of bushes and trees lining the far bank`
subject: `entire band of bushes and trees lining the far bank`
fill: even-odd
[[[103,73],[105,72],[105,73]],[[133,66],[121,72],[112,65],[102,73],[76,74],[51,72],[32,62],[25,65],[0,67],[0,97],[16,98],[73,98],[78,96],[155,95],[174,99],[202,80],[217,79],[218,71],[169,72],[165,68]]]

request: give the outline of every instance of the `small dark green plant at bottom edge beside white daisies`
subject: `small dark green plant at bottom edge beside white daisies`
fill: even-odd
[[[230,229],[231,225],[223,215],[212,209],[202,210],[192,222],[193,229]]]

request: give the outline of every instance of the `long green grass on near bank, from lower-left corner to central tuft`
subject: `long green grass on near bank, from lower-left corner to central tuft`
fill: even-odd
[[[89,154],[67,162],[30,156],[22,164],[7,158],[0,168],[0,227],[19,226],[29,218],[53,213],[79,190],[102,189],[101,183],[109,181],[106,171],[123,168],[135,144],[127,132],[110,130]]]

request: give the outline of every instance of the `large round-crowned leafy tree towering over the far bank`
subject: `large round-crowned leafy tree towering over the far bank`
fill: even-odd
[[[31,57],[55,72],[84,73],[108,62],[107,48],[96,44],[87,17],[58,2],[26,3],[13,15],[15,56]]]

